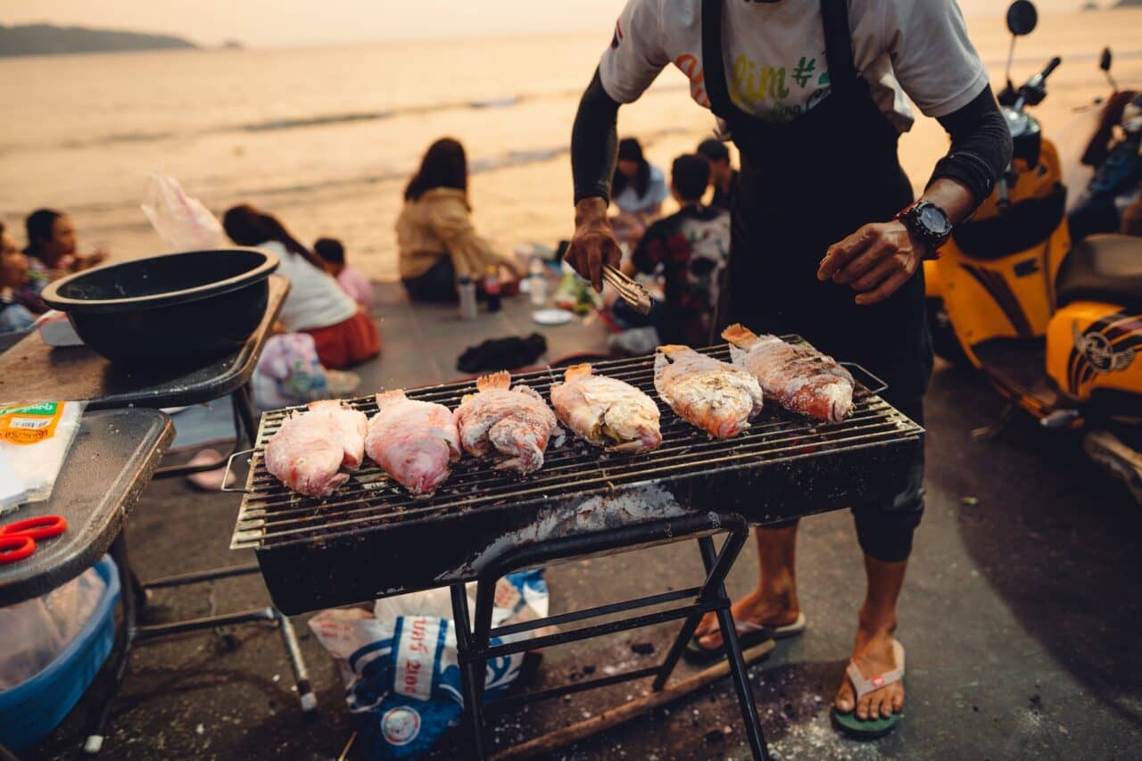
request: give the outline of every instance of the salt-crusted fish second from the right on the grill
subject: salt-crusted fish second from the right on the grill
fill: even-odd
[[[658,395],[685,420],[716,439],[735,436],[762,411],[757,378],[689,346],[659,346]]]

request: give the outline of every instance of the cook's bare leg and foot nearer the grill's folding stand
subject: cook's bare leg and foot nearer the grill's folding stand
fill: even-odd
[[[791,624],[801,612],[794,569],[797,521],[777,528],[756,529],[754,536],[757,538],[757,564],[761,569],[757,588],[733,603],[733,618],[766,626]],[[703,648],[722,646],[714,614],[702,618],[695,635]]]

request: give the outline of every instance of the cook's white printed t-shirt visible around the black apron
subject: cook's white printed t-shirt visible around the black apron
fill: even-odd
[[[725,0],[722,15],[726,87],[739,107],[788,122],[828,96],[820,0]],[[701,17],[701,0],[628,0],[600,63],[606,94],[632,103],[673,63],[708,109]],[[955,0],[849,0],[849,23],[856,70],[900,131],[912,126],[906,93],[944,117],[988,86]]]

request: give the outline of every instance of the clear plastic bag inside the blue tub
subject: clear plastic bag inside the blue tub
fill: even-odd
[[[0,608],[0,691],[50,665],[82,631],[106,588],[89,568],[45,595]]]

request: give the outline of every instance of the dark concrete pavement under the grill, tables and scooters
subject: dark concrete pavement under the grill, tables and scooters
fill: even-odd
[[[512,306],[494,323],[457,325],[378,307],[386,350],[362,370],[365,387],[431,383],[459,375],[456,355],[480,337],[530,330]],[[598,343],[596,328],[544,330],[552,357]],[[483,333],[483,336],[476,336]],[[592,336],[594,336],[592,338]],[[474,339],[475,338],[475,339]],[[842,738],[829,703],[851,646],[863,592],[860,554],[843,512],[802,526],[798,572],[810,619],[804,636],[781,643],[750,670],[771,747],[785,759],[1136,759],[1142,755],[1142,510],[1103,476],[1065,435],[1026,420],[1000,440],[974,443],[1000,400],[976,376],[941,367],[927,400],[927,513],[900,606],[908,649],[907,716],[875,743]],[[974,499],[964,499],[972,497]],[[238,499],[201,494],[182,481],[152,484],[128,527],[144,578],[246,562],[228,550]],[[747,548],[729,587],[756,579]],[[697,547],[578,561],[548,570],[553,612],[689,586],[700,575]],[[268,601],[250,576],[156,592],[150,620],[236,610]],[[349,738],[335,664],[295,619],[320,700],[303,716],[274,630],[262,625],[186,634],[139,646],[114,703],[103,753],[108,759],[336,759]],[[620,634],[547,652],[537,682],[577,679],[608,666],[660,658],[673,627]],[[652,655],[632,643],[650,642]],[[684,674],[679,670],[679,674]],[[75,758],[104,702],[106,668],[64,724],[26,758]],[[643,689],[618,686],[532,704],[499,720],[510,744],[578,721]],[[434,758],[458,758],[445,740]],[[352,753],[351,756],[353,758]],[[625,727],[572,746],[558,759],[748,758],[727,681]]]

